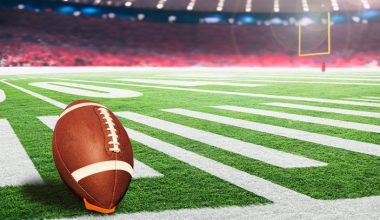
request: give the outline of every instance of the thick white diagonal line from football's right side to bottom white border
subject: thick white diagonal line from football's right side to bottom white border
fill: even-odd
[[[166,143],[141,132],[127,129],[131,139],[140,142],[154,150],[167,154],[177,160],[194,166],[226,182],[232,183],[256,195],[273,202],[309,201],[310,197],[274,184],[260,177],[248,174],[236,168],[224,165],[215,160],[185,150],[181,147]]]

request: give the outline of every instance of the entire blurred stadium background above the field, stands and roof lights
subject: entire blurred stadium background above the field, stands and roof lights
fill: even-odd
[[[299,57],[299,47],[302,53],[326,51],[330,37],[330,55]],[[0,1],[0,66],[317,67],[323,62],[380,65],[379,0]]]

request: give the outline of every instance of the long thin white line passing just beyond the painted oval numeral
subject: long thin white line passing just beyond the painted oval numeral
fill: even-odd
[[[67,80],[67,79],[59,79],[59,78],[56,78],[56,79],[57,80]],[[321,98],[306,98],[306,97],[297,97],[297,96],[267,95],[267,94],[217,91],[217,90],[207,90],[207,89],[191,89],[191,88],[179,88],[179,87],[168,87],[168,86],[137,85],[137,84],[129,84],[129,83],[112,83],[112,82],[100,82],[100,81],[91,81],[91,80],[73,80],[73,79],[70,79],[67,81],[89,82],[89,83],[99,83],[99,84],[107,84],[107,85],[124,85],[124,86],[133,86],[133,87],[141,87],[141,88],[168,89],[168,90],[201,92],[201,93],[210,93],[210,94],[236,95],[236,96],[247,96],[247,97],[256,97],[256,98],[269,98],[269,99],[284,99],[284,100],[296,100],[296,101],[305,101],[305,102],[332,103],[332,104],[339,104],[339,105],[380,107],[380,103],[354,102],[354,101],[344,101],[344,100],[336,100],[336,99],[321,99]]]

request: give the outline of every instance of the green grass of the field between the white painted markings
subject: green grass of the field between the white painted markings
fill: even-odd
[[[222,74],[222,73],[221,73]],[[380,73],[371,73],[380,81]],[[314,75],[315,76],[315,75]],[[335,74],[334,77],[342,77]],[[350,78],[356,76],[350,75]],[[345,98],[380,97],[380,86],[323,84],[323,83],[286,83],[286,82],[251,82],[257,79],[255,74],[239,74],[222,79],[199,77],[198,80],[222,81],[230,83],[264,84],[258,87],[225,86],[225,85],[158,85],[118,81],[120,78],[160,79],[194,81],[193,78],[182,78],[181,75],[166,75],[164,72],[149,73],[109,73],[109,74],[56,74],[1,77],[13,85],[33,91],[40,95],[69,104],[78,99],[97,101],[114,112],[130,111],[146,116],[186,125],[203,131],[248,143],[265,146],[293,155],[327,163],[322,167],[281,168],[263,161],[254,160],[232,153],[200,141],[174,135],[167,131],[153,128],[148,124],[137,123],[120,118],[122,123],[131,129],[151,137],[173,144],[203,157],[223,163],[244,171],[250,175],[268,180],[291,191],[304,194],[319,200],[336,200],[362,198],[380,195],[380,159],[378,156],[352,152],[344,149],[284,137],[275,134],[252,131],[236,126],[210,122],[181,116],[162,109],[183,108],[230,118],[244,119],[262,124],[292,128],[316,134],[324,134],[347,140],[373,143],[380,147],[380,135],[356,129],[340,128],[316,123],[281,119],[270,116],[238,113],[212,108],[217,105],[249,107],[276,112],[292,113],[303,116],[314,116],[346,122],[357,122],[380,126],[380,118],[344,115],[329,112],[310,111],[264,105],[269,102],[281,102],[320,106],[336,109],[347,109],[380,113],[376,106],[322,103],[283,98],[249,97],[232,94],[209,93],[191,90],[172,90],[186,88],[207,91],[228,91],[238,93],[266,94],[344,100]],[[197,78],[195,76],[195,78]],[[347,78],[347,76],[346,76]],[[364,76],[363,76],[364,78]],[[63,80],[62,80],[63,79]],[[284,80],[274,77],[276,80]],[[83,81],[72,81],[83,80]],[[288,79],[286,79],[288,80]],[[298,79],[296,79],[298,80]],[[368,81],[326,79],[312,81],[326,82],[362,82]],[[86,81],[86,82],[85,82]],[[92,82],[89,82],[92,81]],[[33,82],[71,82],[101,87],[128,89],[143,95],[132,98],[97,98],[83,95],[72,95],[30,85]],[[108,83],[108,84],[107,84]],[[114,84],[112,84],[114,83]],[[126,85],[127,84],[127,85]],[[142,87],[141,87],[142,86]],[[147,87],[145,87],[147,86]],[[151,87],[153,86],[153,87]],[[156,86],[156,87],[154,87]],[[159,88],[165,87],[165,88]],[[59,115],[62,109],[53,106],[32,95],[0,82],[0,90],[6,94],[6,100],[0,103],[0,119],[7,119],[21,141],[24,149],[41,175],[44,184],[27,183],[21,186],[4,186],[0,188],[0,219],[60,218],[82,215],[97,215],[86,211],[79,200],[65,187],[55,169],[51,151],[52,131],[44,125],[38,116]],[[93,92],[96,89],[90,89]],[[367,102],[366,102],[367,103]],[[368,103],[377,103],[376,101]],[[378,104],[380,105],[380,99]],[[0,140],[0,146],[1,142]],[[261,197],[234,184],[200,170],[190,164],[170,157],[137,141],[133,141],[135,158],[159,173],[163,177],[140,178],[132,181],[131,187],[117,209],[117,213],[135,213],[143,211],[161,211],[183,208],[228,207],[270,204],[268,198]],[[7,166],[7,164],[0,164]],[[1,182],[1,181],[0,181]]]

